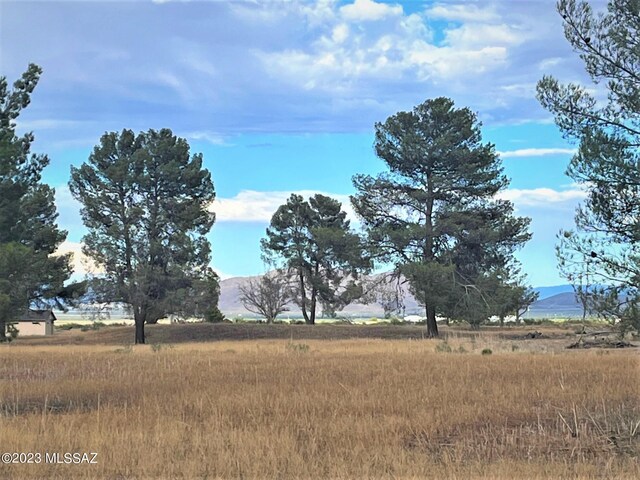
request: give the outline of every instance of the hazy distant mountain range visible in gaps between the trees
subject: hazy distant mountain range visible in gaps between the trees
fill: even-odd
[[[220,282],[220,310],[230,318],[243,316],[255,316],[247,311],[240,301],[240,286],[248,283],[250,280],[257,280],[254,277],[233,277],[227,278]],[[423,308],[418,304],[416,299],[404,289],[404,306],[406,315],[423,315]],[[582,316],[582,306],[576,300],[571,285],[557,285],[551,287],[536,287],[536,292],[540,294],[538,301],[533,303],[529,311],[524,315],[530,318],[541,317],[580,317]],[[382,317],[384,311],[382,306],[377,303],[359,304],[354,303],[347,306],[339,312],[341,317]],[[301,312],[297,305],[290,304],[289,311],[282,314],[282,318],[300,317]]]

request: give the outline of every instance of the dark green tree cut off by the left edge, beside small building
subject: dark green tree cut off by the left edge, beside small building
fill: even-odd
[[[31,153],[33,133],[16,134],[15,120],[41,73],[29,65],[13,89],[0,77],[0,340],[6,322],[30,306],[63,308],[82,290],[81,284],[64,286],[71,255],[52,255],[67,232],[56,224],[54,190],[41,181],[49,159]]]

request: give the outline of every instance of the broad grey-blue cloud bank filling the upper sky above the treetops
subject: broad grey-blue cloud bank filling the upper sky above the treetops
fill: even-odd
[[[438,95],[485,124],[535,120],[546,115],[532,85],[547,69],[584,78],[552,2],[30,5],[3,7],[3,47],[22,38],[20,18],[32,23],[29,42],[2,48],[3,74],[17,78],[29,61],[44,68],[28,120],[52,142],[123,122],[145,129],[149,115],[225,136],[362,131]]]

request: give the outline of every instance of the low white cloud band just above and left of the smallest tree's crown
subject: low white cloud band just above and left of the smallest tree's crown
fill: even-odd
[[[268,223],[278,207],[286,203],[292,193],[301,195],[305,199],[316,193],[335,198],[342,203],[342,209],[347,212],[347,217],[352,221],[355,220],[356,216],[351,208],[348,195],[337,195],[316,190],[298,190],[295,192],[242,190],[235,197],[215,200],[211,210],[216,213],[216,221],[218,222]]]

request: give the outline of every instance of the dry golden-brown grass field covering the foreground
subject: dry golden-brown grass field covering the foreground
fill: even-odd
[[[98,463],[0,478],[640,478],[636,349],[66,338],[0,348],[0,450]]]

